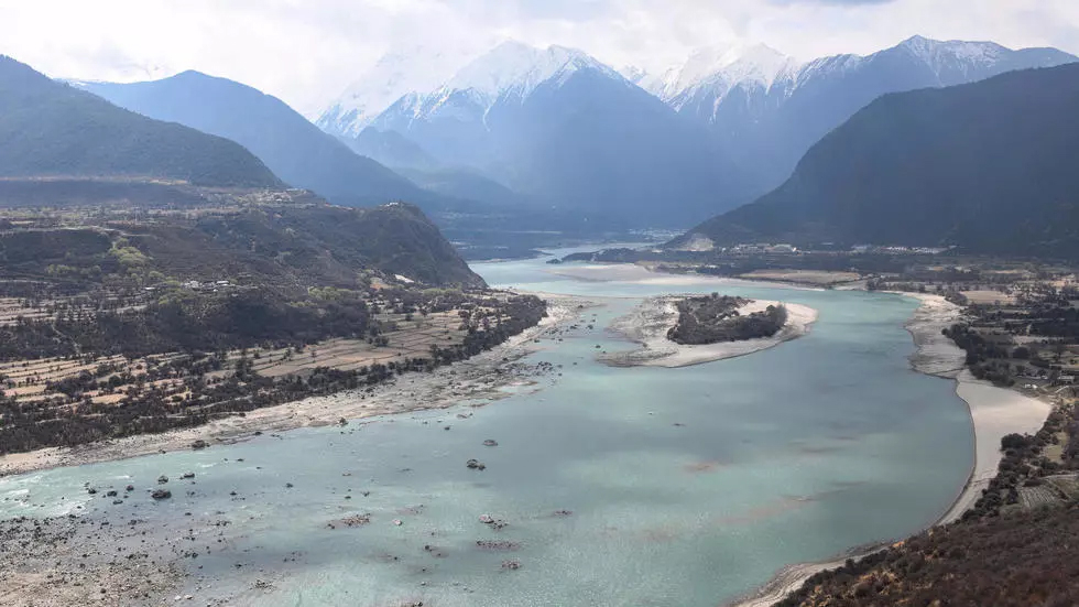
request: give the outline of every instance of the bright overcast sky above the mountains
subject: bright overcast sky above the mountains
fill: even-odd
[[[914,34],[1079,53],[1076,0],[0,0],[0,53],[56,77],[184,69],[310,115],[383,53],[475,53],[500,40],[662,69],[699,46],[763,42],[798,58]]]

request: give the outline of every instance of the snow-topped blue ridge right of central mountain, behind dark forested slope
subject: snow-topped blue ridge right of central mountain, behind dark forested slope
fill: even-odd
[[[799,64],[763,45],[708,48],[642,86],[738,150],[756,188],[791,175],[810,145],[878,97],[982,80],[1077,61],[1055,48],[1013,51],[992,42],[915,36],[868,56]]]

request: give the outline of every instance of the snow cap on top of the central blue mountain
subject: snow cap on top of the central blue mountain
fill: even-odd
[[[513,93],[527,97],[540,85],[591,68],[618,77],[614,69],[582,51],[565,46],[536,48],[520,42],[503,42],[458,72],[444,90],[468,90],[488,100]]]

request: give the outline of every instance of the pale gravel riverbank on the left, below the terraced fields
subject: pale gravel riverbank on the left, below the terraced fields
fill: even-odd
[[[592,302],[580,297],[544,295],[547,317],[506,343],[468,360],[440,367],[433,372],[408,372],[367,389],[258,409],[243,416],[216,420],[208,424],[105,441],[78,447],[51,447],[0,456],[0,477],[62,466],[81,466],[127,459],[156,453],[192,448],[197,441],[208,445],[244,441],[255,432],[277,433],[299,427],[326,426],[345,420],[419,410],[447,409],[461,401],[488,403],[510,395],[506,388],[534,386],[545,369],[520,364],[520,359],[543,348],[543,339],[562,332]],[[537,342],[538,340],[538,342]]]

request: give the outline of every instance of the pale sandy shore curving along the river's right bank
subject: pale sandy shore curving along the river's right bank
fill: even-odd
[[[1045,424],[1053,408],[1048,403],[1026,397],[1015,390],[998,388],[976,379],[966,365],[966,353],[951,339],[941,335],[944,328],[955,324],[962,314],[962,307],[941,295],[883,291],[917,300],[915,310],[905,328],[915,344],[911,355],[911,369],[931,377],[950,379],[956,382],[956,394],[967,405],[973,438],[974,458],[967,481],[956,499],[931,524],[920,532],[935,527],[953,523],[962,518],[981,498],[982,490],[996,476],[1003,454],[1001,438],[1013,432],[1034,434]],[[887,548],[880,545],[872,550],[854,549],[847,556],[822,563],[799,563],[781,570],[766,585],[742,598],[726,604],[726,607],[771,607],[800,588],[814,575],[842,566],[848,559],[860,560]]]

